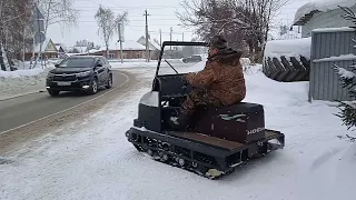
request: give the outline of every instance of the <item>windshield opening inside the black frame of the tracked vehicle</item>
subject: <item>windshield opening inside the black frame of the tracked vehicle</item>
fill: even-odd
[[[205,46],[165,46],[158,76],[200,71],[207,57],[208,47]]]

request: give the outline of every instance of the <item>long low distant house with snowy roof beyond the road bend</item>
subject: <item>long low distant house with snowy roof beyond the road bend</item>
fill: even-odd
[[[107,57],[107,48],[103,46],[99,50],[89,50],[89,54]],[[150,60],[157,60],[158,54],[155,53],[156,48],[149,48]],[[108,59],[120,59],[120,43],[115,43],[109,47]],[[146,59],[146,47],[136,41],[122,42],[122,58],[123,59]]]

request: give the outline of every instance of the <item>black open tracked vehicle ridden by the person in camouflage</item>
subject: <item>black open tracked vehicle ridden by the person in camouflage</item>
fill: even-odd
[[[200,107],[187,131],[170,129],[169,118],[178,116],[180,104],[191,87],[182,77],[186,73],[179,73],[167,60],[167,68],[175,72],[160,72],[165,71],[161,60],[168,46],[204,48],[208,44],[171,41],[162,43],[152,89],[140,99],[138,118],[126,132],[128,141],[138,151],[148,153],[157,161],[217,179],[250,159],[284,148],[284,133],[266,129],[264,107],[251,102],[229,107]],[[189,70],[189,67],[182,68]]]

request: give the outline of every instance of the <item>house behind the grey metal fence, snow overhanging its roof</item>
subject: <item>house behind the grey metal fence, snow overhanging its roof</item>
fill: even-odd
[[[355,0],[319,0],[300,7],[293,24],[301,27],[301,38],[312,37],[312,31],[315,29],[353,26],[350,21],[342,17],[345,12],[338,6],[347,7],[356,12]]]

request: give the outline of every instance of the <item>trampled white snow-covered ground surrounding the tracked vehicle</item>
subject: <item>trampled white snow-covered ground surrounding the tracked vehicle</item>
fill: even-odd
[[[211,181],[156,162],[127,141],[155,70],[126,70],[139,73],[126,98],[3,158],[0,199],[354,199],[356,144],[338,138],[349,132],[335,107],[307,101],[307,82],[280,83],[250,69],[245,101],[264,104],[266,127],[286,134],[286,148]]]

